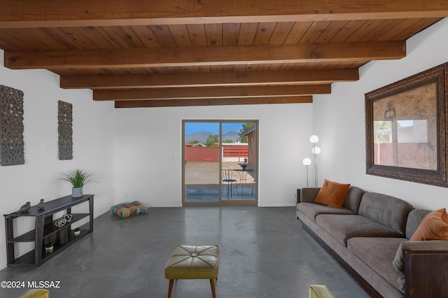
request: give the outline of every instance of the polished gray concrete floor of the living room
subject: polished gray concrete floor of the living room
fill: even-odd
[[[51,298],[167,297],[165,263],[179,244],[217,244],[217,297],[308,297],[325,284],[335,297],[367,294],[295,220],[295,208],[150,208],[122,220],[105,213],[94,233],[41,267],[10,267],[0,281],[60,281]],[[0,297],[28,290],[0,288]],[[211,297],[207,280],[174,283],[172,297]]]

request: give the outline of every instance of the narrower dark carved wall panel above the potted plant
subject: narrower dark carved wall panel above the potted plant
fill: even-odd
[[[59,160],[73,159],[73,129],[71,123],[73,107],[64,101],[57,102],[57,120],[59,126]]]

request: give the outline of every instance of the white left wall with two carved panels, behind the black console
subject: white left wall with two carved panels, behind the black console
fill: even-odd
[[[71,185],[57,178],[68,169],[95,173],[100,183],[86,185],[94,193],[94,215],[109,210],[113,201],[113,103],[92,101],[90,90],[59,89],[59,76],[45,70],[10,70],[3,67],[0,50],[0,85],[25,92],[25,164],[0,166],[0,213],[17,211],[30,201],[49,201],[71,194]],[[73,159],[59,161],[57,150],[57,101],[73,104]],[[42,142],[48,142],[43,150]],[[83,206],[80,206],[83,208]],[[73,211],[76,209],[73,208]],[[86,209],[88,210],[88,209]],[[15,222],[16,234],[34,228],[31,218]],[[0,220],[0,268],[6,267],[4,220]],[[30,244],[16,245],[18,255]]]

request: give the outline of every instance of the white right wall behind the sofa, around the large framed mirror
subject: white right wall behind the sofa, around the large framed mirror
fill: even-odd
[[[448,188],[365,174],[364,94],[448,61],[448,19],[407,41],[407,57],[370,62],[360,80],[334,83],[332,94],[314,97],[314,132],[320,136],[319,180],[351,183],[409,201],[416,208],[448,207]],[[320,181],[320,183],[321,183]]]

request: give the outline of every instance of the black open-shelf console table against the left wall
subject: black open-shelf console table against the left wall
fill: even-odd
[[[52,201],[45,201],[45,208],[43,210],[38,210],[36,205],[29,208],[29,211],[25,213],[3,215],[5,217],[8,267],[13,264],[34,264],[35,267],[39,267],[44,262],[50,260],[51,257],[54,257],[73,243],[78,242],[80,239],[92,233],[93,197],[94,194],[85,194],[79,198],[67,196]],[[89,213],[71,213],[71,207],[85,202],[89,204]],[[65,214],[73,215],[71,221],[63,227],[56,227],[55,220],[57,218],[53,218],[53,214],[59,211],[65,211]],[[15,237],[14,222],[23,216],[33,216],[36,218],[35,229]],[[80,236],[73,236],[71,225],[87,217],[89,217],[89,222],[80,227]],[[18,223],[16,222],[16,224]],[[19,242],[34,242],[34,250],[15,258],[14,246],[15,243]],[[48,242],[54,243],[54,250],[50,254],[45,254],[45,244]]]

